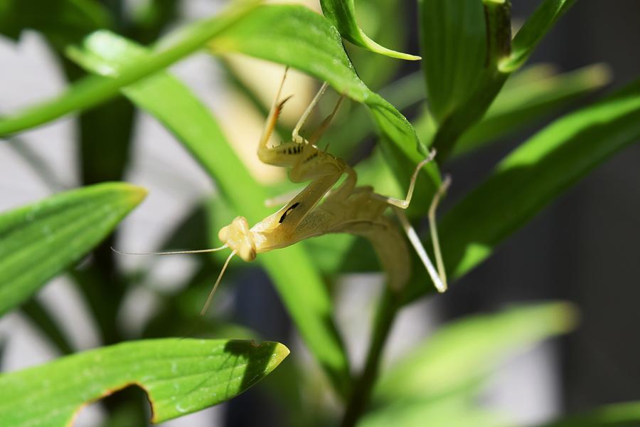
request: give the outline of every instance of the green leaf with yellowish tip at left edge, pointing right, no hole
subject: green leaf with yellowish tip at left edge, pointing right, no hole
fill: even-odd
[[[0,215],[0,315],[100,243],[146,191],[87,186]]]

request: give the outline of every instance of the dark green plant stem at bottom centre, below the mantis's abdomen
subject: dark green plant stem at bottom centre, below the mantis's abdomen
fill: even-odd
[[[351,397],[347,402],[342,419],[342,427],[355,426],[358,418],[363,414],[369,403],[371,392],[373,391],[373,384],[375,384],[375,380],[378,379],[380,358],[383,354],[385,342],[387,341],[387,337],[393,326],[393,320],[395,320],[395,315],[399,309],[399,295],[389,289],[385,290],[380,299],[378,312],[376,312],[375,315],[373,334],[371,336],[365,367],[353,385]]]

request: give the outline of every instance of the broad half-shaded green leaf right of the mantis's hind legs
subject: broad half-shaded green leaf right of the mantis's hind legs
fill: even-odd
[[[556,120],[497,165],[442,218],[447,270],[459,277],[598,164],[640,139],[640,80]]]

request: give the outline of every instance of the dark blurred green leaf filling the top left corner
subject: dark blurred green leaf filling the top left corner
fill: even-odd
[[[31,28],[61,49],[92,31],[111,26],[109,12],[94,0],[0,1],[0,34],[14,40]]]

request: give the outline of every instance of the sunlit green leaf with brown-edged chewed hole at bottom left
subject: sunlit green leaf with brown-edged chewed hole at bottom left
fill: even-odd
[[[124,342],[1,375],[0,418],[14,427],[68,426],[85,404],[136,385],[148,394],[151,421],[158,423],[232,399],[288,354],[277,342]]]

